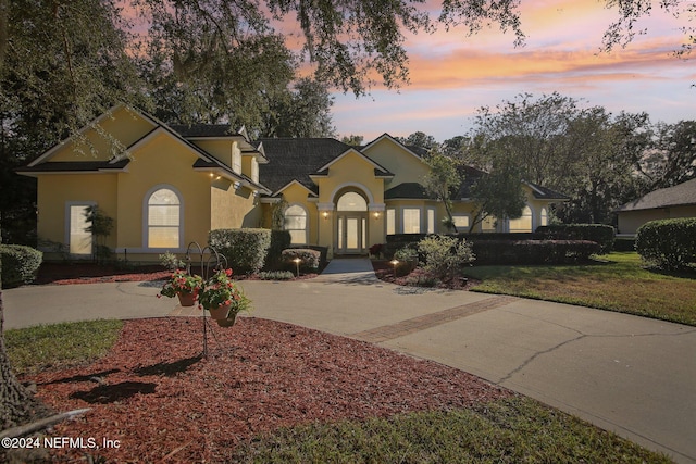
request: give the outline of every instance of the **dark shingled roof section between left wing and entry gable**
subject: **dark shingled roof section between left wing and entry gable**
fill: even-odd
[[[259,177],[273,192],[293,180],[316,192],[309,177],[351,147],[332,138],[262,138],[269,164],[259,166]]]

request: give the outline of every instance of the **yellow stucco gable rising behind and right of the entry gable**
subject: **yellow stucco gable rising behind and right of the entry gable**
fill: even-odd
[[[369,147],[364,153],[395,175],[387,181],[387,189],[403,183],[422,184],[423,177],[427,174],[425,163],[388,138]]]

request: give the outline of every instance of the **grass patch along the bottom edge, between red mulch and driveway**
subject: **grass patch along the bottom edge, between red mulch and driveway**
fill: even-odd
[[[257,437],[240,463],[668,463],[614,434],[526,398],[470,410],[313,423]]]

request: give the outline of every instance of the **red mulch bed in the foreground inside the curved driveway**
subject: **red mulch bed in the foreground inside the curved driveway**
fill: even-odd
[[[212,334],[202,359],[201,318],[128,321],[100,361],[30,377],[54,410],[91,407],[53,436],[120,442],[52,450],[53,461],[226,462],[241,440],[277,427],[512,394],[455,368],[289,324],[245,317],[232,328],[213,324]]]

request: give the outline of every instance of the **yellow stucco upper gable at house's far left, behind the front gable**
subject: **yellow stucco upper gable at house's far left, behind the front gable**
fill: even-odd
[[[98,125],[126,148],[154,128],[150,121],[123,106],[117,108],[111,115],[101,117]],[[113,158],[111,141],[97,130],[87,129],[85,137],[87,143],[67,141],[48,161],[108,161]]]

